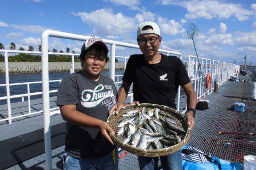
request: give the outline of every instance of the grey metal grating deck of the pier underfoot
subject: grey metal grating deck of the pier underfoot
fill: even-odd
[[[230,147],[224,147],[224,142],[205,142],[204,139],[247,139],[255,141],[255,137],[244,137],[239,135],[218,135],[218,131],[248,132],[256,131],[256,103],[251,99],[251,83],[226,82],[220,87],[218,93],[208,95],[205,100],[210,100],[210,109],[197,111],[196,126],[192,131],[189,143],[200,148],[205,153],[211,153],[217,158],[242,162],[243,155],[256,155],[256,145],[254,143],[236,142]],[[241,98],[246,104],[246,111],[234,112],[230,109],[234,97]],[[52,101],[54,103],[54,101]],[[182,102],[182,101],[181,101]],[[184,103],[184,101],[183,101]],[[3,109],[3,108],[2,108]],[[2,110],[3,111],[3,110]],[[64,121],[60,115],[51,117],[51,125],[61,124]],[[34,128],[33,128],[34,127]],[[5,134],[0,136],[0,142],[11,137],[30,133],[36,129],[43,128],[43,117],[35,116],[24,120],[14,121],[12,125],[2,124],[0,130]],[[64,153],[64,146],[52,150],[53,169],[63,167],[61,157]],[[123,154],[123,151],[119,155]],[[28,159],[9,169],[44,169],[46,163],[44,154]],[[0,163],[1,164],[1,163]],[[127,154],[119,160],[119,169],[138,169],[137,156]],[[0,166],[1,169],[1,166]]]

